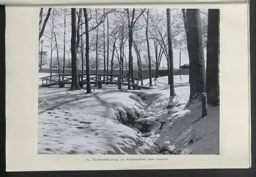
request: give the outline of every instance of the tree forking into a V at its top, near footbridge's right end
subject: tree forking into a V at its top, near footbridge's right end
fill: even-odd
[[[129,69],[128,69],[128,73],[127,73],[127,84],[128,84],[128,89],[131,89],[131,72],[132,72],[132,61],[133,61],[133,56],[132,56],[132,47],[133,47],[133,29],[135,26],[135,23],[137,22],[137,20],[139,19],[139,17],[144,13],[146,9],[141,10],[140,14],[137,16],[136,19],[134,19],[135,17],[135,9],[133,9],[133,13],[132,13],[132,19],[130,19],[130,11],[129,9],[126,9],[127,12],[127,19],[128,19],[128,29],[129,29]]]

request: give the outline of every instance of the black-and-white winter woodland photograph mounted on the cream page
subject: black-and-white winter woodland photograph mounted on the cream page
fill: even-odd
[[[220,155],[220,13],[38,8],[37,153]]]

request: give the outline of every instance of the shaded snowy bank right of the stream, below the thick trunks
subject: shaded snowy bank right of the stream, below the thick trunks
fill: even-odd
[[[167,109],[169,86],[167,77],[153,81],[153,88],[139,95],[150,104],[147,112],[158,122],[151,132],[161,151],[174,154],[219,154],[220,114],[218,107],[207,107],[207,116],[200,119],[201,106],[185,108],[189,98],[188,76],[174,78],[175,93],[172,109]],[[146,80],[144,83],[148,83]]]

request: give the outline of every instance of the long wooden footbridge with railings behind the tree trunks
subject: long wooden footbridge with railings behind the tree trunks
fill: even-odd
[[[53,74],[47,77],[40,78],[42,87],[50,87],[58,85],[60,88],[72,82],[72,74]],[[131,87],[135,90],[137,89],[150,89],[150,87],[139,85],[141,79],[130,77]],[[86,74],[78,74],[78,82],[81,88],[86,84],[87,76]],[[128,79],[126,75],[121,74],[91,74],[90,76],[91,84],[101,88],[102,84],[106,85],[117,85],[118,89],[122,88],[122,85],[127,86]]]

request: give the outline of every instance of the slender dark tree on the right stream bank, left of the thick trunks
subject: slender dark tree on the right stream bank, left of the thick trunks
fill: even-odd
[[[167,16],[167,38],[168,38],[168,58],[169,58],[169,75],[170,75],[170,96],[175,96],[174,92],[174,62],[173,62],[173,44],[172,44],[172,31],[170,30],[170,9],[166,9]]]

